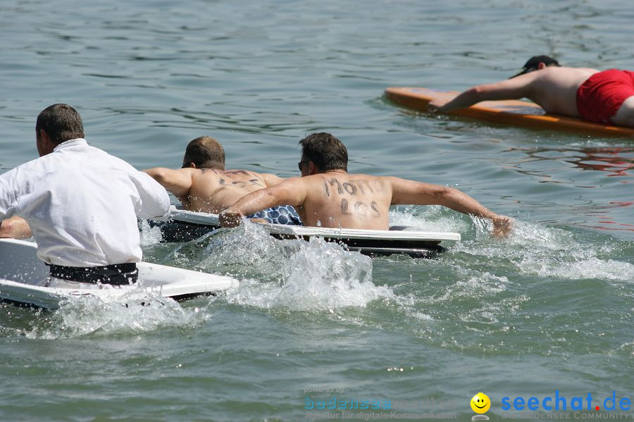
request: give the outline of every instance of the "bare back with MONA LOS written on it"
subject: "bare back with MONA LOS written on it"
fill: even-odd
[[[392,185],[386,178],[338,171],[301,179],[306,199],[298,212],[304,225],[387,230]]]

